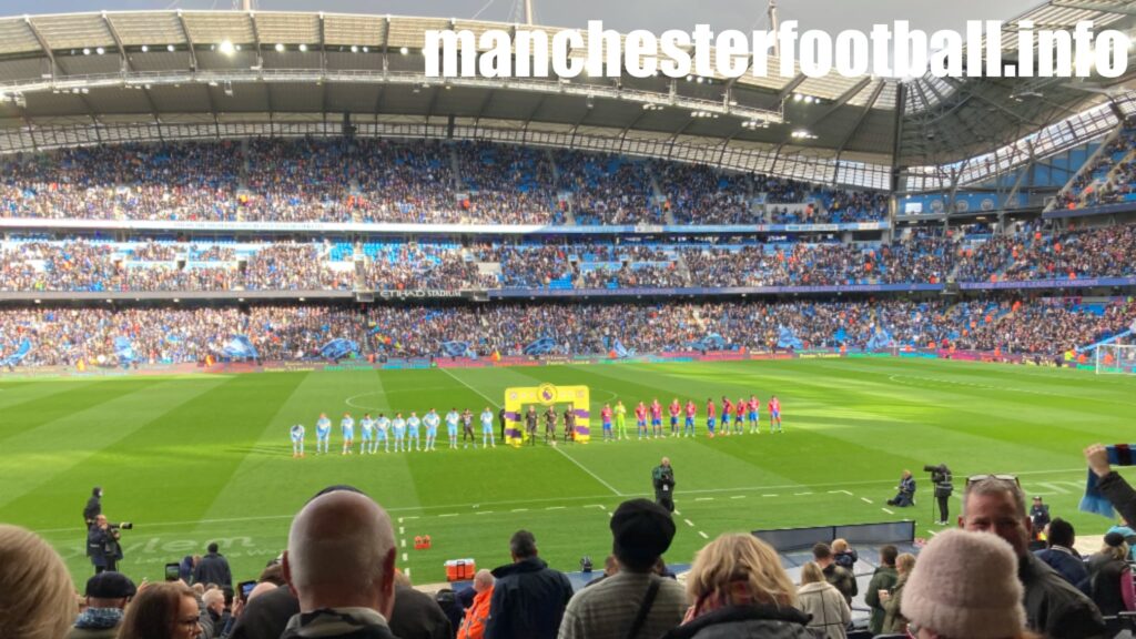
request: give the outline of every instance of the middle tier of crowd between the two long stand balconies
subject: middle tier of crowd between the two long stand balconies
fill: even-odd
[[[260,242],[234,249],[144,241],[0,244],[0,290],[176,291],[849,285],[1136,275],[1136,224],[893,243],[377,242],[356,275],[350,244]],[[247,267],[241,265],[245,264]]]

